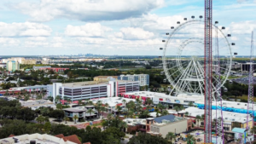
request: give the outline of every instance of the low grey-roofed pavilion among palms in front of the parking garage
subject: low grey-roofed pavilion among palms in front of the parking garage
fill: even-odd
[[[88,113],[87,110],[92,109],[92,113]],[[79,119],[85,119],[85,120],[90,120],[92,118],[96,118],[98,115],[98,112],[96,111],[95,106],[84,106],[84,107],[71,107],[71,108],[64,108],[63,111],[65,112],[65,115],[68,118],[72,118],[77,115]],[[73,119],[74,121],[74,119]]]

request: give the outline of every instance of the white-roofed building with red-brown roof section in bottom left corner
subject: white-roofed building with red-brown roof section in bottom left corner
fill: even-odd
[[[72,138],[71,138],[72,136]],[[67,136],[67,137],[57,137],[53,135],[47,135],[47,134],[31,134],[31,135],[10,135],[7,138],[0,139],[1,144],[10,144],[10,143],[17,143],[17,144],[24,144],[24,143],[30,143],[30,144],[36,144],[36,143],[48,143],[48,144],[81,144],[80,141],[73,142],[75,140],[73,138],[73,135]],[[78,138],[78,137],[77,137]]]

